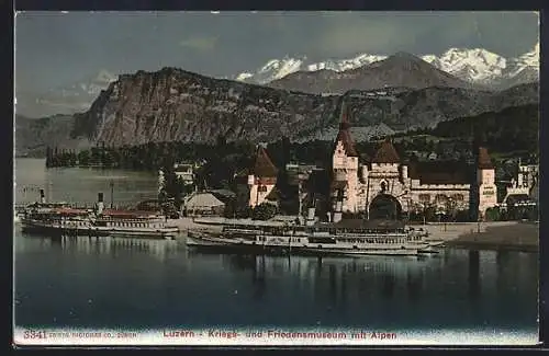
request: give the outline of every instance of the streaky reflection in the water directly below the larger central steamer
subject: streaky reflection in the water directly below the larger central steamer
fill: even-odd
[[[313,294],[320,299],[326,298],[330,306],[340,306],[352,292],[365,299],[376,292],[384,300],[392,300],[397,288],[406,290],[410,300],[418,300],[425,269],[432,260],[228,255],[223,262],[229,271],[250,273],[255,298],[261,298],[269,284],[293,277],[299,280],[298,285],[312,284]]]

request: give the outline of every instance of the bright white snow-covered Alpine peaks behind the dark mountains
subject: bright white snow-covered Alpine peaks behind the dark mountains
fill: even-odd
[[[255,72],[243,72],[235,80],[266,84],[295,71],[333,70],[346,71],[385,59],[388,56],[361,54],[350,59],[328,59],[307,62],[306,57],[271,59]],[[449,48],[440,56],[423,55],[423,60],[460,79],[497,85],[517,77],[524,70],[539,72],[539,43],[535,48],[517,58],[505,58],[482,48]],[[518,78],[518,77],[517,77]]]

